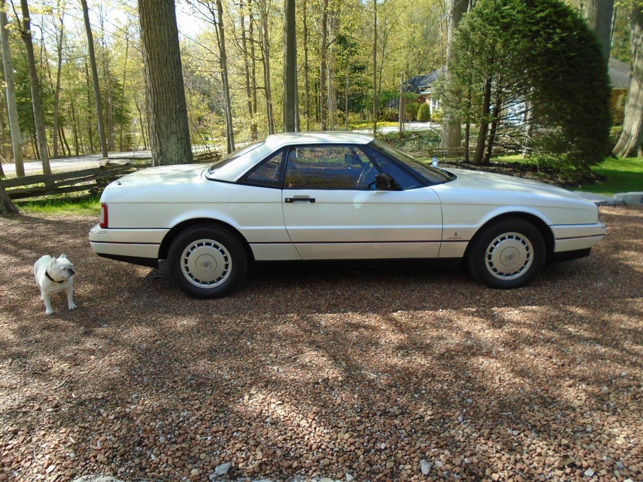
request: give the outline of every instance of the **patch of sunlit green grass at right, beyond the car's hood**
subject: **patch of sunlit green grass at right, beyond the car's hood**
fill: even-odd
[[[612,159],[608,157],[592,168],[596,174],[607,177],[607,181],[586,184],[579,190],[613,195],[617,192],[643,191],[643,157]]]

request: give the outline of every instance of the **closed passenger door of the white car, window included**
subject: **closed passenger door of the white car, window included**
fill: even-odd
[[[400,189],[376,189],[381,172]],[[439,254],[442,211],[435,192],[366,145],[291,147],[282,197],[285,227],[305,260]]]

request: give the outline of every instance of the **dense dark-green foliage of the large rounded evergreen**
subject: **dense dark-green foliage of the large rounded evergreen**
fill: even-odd
[[[491,84],[491,111],[499,135],[524,135],[521,116],[502,119],[508,107],[531,107],[530,136],[523,143],[580,170],[608,151],[610,89],[599,42],[586,22],[559,0],[480,0],[458,26],[448,102],[463,118],[484,114],[484,85]],[[465,93],[470,93],[469,98]],[[503,131],[502,129],[505,129]],[[518,134],[516,134],[516,132]]]

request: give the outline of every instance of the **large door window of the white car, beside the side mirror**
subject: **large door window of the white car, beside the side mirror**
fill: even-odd
[[[378,170],[362,146],[293,146],[287,155],[285,189],[368,189]]]

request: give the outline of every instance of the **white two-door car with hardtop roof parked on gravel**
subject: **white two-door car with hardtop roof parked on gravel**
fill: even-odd
[[[513,288],[546,262],[587,256],[606,231],[572,192],[428,166],[346,132],[275,134],[210,166],[141,170],[101,202],[89,231],[99,256],[167,258],[177,285],[203,298],[239,287],[251,260],[457,258]]]

